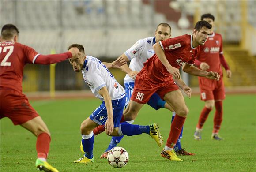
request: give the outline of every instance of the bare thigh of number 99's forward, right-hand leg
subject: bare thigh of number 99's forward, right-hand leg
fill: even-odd
[[[187,116],[188,107],[185,104],[184,97],[180,90],[174,90],[169,93],[166,93],[164,100],[173,107],[173,110],[177,115]]]

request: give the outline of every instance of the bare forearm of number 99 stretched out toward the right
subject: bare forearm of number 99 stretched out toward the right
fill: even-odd
[[[219,80],[219,74],[217,72],[207,72],[207,71],[203,71],[201,69],[198,69],[197,67],[187,64],[185,63],[182,67],[182,70],[186,73],[189,73],[191,75],[195,75],[195,76],[203,76],[206,77],[208,79],[215,79],[216,81]]]

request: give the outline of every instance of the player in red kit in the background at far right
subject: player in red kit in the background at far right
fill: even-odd
[[[214,16],[211,14],[202,15],[201,20],[209,22],[212,26],[214,25]],[[226,76],[228,78],[231,77],[232,73],[223,56],[222,36],[218,33],[213,32],[213,28],[211,28],[211,34],[209,35],[208,41],[201,46],[201,51],[197,55],[195,64],[203,71],[218,72],[220,75],[220,79],[218,82],[216,82],[211,79],[198,77],[201,92],[201,100],[205,102],[205,107],[203,108],[200,114],[194,138],[196,140],[201,140],[201,131],[203,128],[203,124],[207,120],[207,117],[211,112],[211,109],[215,106],[216,111],[214,116],[214,127],[211,138],[215,140],[222,140],[222,138],[218,135],[218,131],[222,123],[222,101],[225,98],[224,83],[222,79],[223,72],[221,64],[225,68]]]

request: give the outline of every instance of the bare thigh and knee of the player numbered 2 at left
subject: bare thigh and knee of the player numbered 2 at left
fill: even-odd
[[[50,135],[50,131],[48,130],[41,116],[28,120],[27,122],[22,123],[21,126],[31,131],[36,136],[40,135],[41,133],[48,133]]]

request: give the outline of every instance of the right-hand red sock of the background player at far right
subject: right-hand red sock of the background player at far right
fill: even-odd
[[[223,108],[222,108],[222,101],[216,101],[215,102],[215,115],[214,115],[214,127],[212,133],[218,133],[220,129],[220,125],[222,123],[222,114],[223,114]]]

